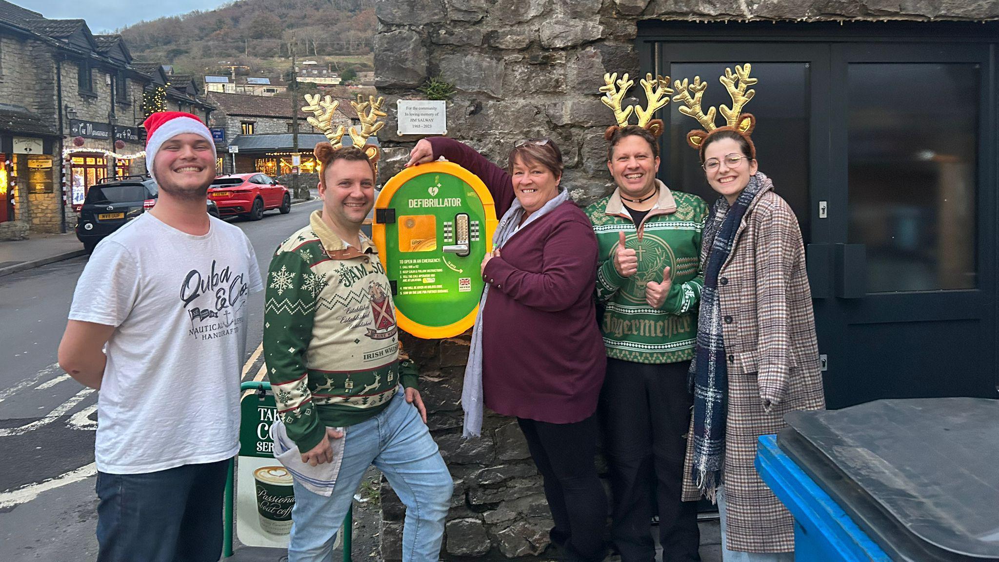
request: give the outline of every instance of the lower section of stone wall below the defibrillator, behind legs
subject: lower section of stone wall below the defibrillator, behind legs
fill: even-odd
[[[455,480],[441,557],[554,556],[541,477],[516,420],[487,410],[482,437],[462,437],[468,334],[447,340],[401,334],[405,353],[420,365],[428,425]],[[402,560],[406,510],[387,482],[382,483],[382,514],[382,556]]]

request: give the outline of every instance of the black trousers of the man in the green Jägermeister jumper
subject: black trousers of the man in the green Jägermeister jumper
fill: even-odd
[[[647,365],[607,359],[600,418],[610,464],[612,537],[621,562],[655,558],[652,501],[659,512],[662,562],[700,560],[697,502],[680,499],[693,405],[689,367],[689,361]]]

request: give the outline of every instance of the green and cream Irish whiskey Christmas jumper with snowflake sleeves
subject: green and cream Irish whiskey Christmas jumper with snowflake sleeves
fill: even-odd
[[[302,452],[325,427],[361,423],[384,410],[402,373],[392,291],[370,240],[344,244],[313,213],[278,247],[264,304],[264,357],[278,412]]]

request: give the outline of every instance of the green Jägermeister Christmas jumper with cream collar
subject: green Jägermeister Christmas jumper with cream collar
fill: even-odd
[[[704,285],[699,271],[700,233],[708,207],[696,195],[670,191],[662,182],[656,206],[637,227],[618,190],[586,207],[599,245],[596,299],[603,307],[600,329],[607,357],[635,363],[676,363],[693,358],[697,303]],[[638,256],[638,271],[621,277],[613,255],[624,232]],[[672,286],[662,307],[645,302],[645,283],[662,282],[670,267]]]

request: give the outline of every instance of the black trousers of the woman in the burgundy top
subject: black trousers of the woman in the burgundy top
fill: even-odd
[[[555,527],[551,539],[562,558],[599,562],[606,556],[603,529],[607,497],[596,476],[596,416],[576,423],[547,423],[517,418],[527,448],[544,478],[544,497]]]

